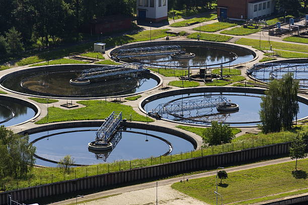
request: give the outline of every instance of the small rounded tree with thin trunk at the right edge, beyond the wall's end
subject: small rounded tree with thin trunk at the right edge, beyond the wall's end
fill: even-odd
[[[291,143],[290,157],[291,159],[296,159],[295,170],[297,170],[297,159],[302,159],[307,156],[305,149],[306,149],[306,145],[304,144],[301,137],[299,137],[299,135],[294,137]]]

